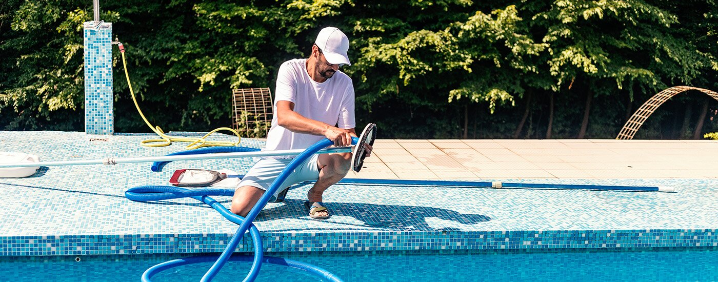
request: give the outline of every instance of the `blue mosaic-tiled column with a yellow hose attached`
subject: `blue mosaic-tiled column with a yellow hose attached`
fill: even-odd
[[[114,132],[112,23],[85,22],[85,133]]]

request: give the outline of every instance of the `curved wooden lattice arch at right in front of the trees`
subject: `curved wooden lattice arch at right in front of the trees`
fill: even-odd
[[[718,93],[715,93],[712,90],[695,88],[690,86],[673,86],[672,88],[668,88],[659,92],[656,95],[653,95],[651,99],[648,99],[648,101],[643,103],[643,105],[638,108],[638,111],[635,111],[635,113],[633,113],[633,116],[631,116],[628,121],[626,121],[626,124],[623,126],[623,128],[621,128],[620,133],[618,133],[618,136],[616,136],[616,139],[633,139],[635,133],[638,132],[638,128],[640,128],[640,126],[643,126],[643,122],[648,119],[649,116],[651,116],[651,113],[653,113],[653,111],[656,111],[659,106],[663,105],[663,102],[666,102],[666,100],[672,98],[673,96],[688,90],[699,90],[702,93],[706,93],[707,95],[718,100]]]

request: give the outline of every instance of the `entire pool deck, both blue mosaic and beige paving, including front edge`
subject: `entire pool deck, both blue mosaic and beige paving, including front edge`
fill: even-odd
[[[0,131],[0,151],[43,161],[162,156],[151,135]],[[230,137],[219,136],[230,140]],[[243,139],[242,146],[264,142]],[[673,186],[676,193],[480,189],[342,184],[329,220],[302,208],[309,185],[255,221],[269,252],[644,248],[717,246],[718,142],[617,140],[377,140],[359,174],[376,179],[474,179],[554,184]],[[0,179],[0,255],[215,253],[236,225],[195,199],[133,202],[141,185],[167,185],[175,169],[231,169],[251,159],[51,166]],[[229,197],[214,197],[225,207]],[[245,238],[238,251],[250,252]]]

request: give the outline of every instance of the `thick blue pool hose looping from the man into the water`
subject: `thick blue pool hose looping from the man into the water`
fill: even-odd
[[[358,138],[353,137],[352,143],[356,144],[358,142]],[[276,192],[277,189],[279,189],[279,185],[281,185],[284,180],[289,177],[289,174],[294,171],[294,169],[299,166],[299,164],[302,164],[306,159],[309,158],[309,156],[312,156],[313,154],[317,153],[317,151],[332,145],[333,142],[329,139],[325,138],[321,141],[317,142],[316,144],[310,146],[308,149],[304,150],[302,154],[299,154],[299,156],[295,157],[294,160],[292,160],[286,168],[284,168],[283,171],[279,174],[279,177],[274,179],[274,182],[272,182],[269,189],[262,195],[262,197],[258,200],[257,204],[254,205],[252,210],[249,211],[248,215],[246,217],[241,217],[239,215],[235,215],[229,210],[227,210],[226,207],[221,205],[219,202],[215,201],[215,199],[210,198],[209,196],[232,196],[234,194],[233,189],[213,189],[213,188],[205,188],[205,189],[184,189],[180,187],[172,187],[172,186],[142,186],[142,187],[133,187],[131,189],[128,189],[127,192],[125,192],[125,197],[128,199],[131,199],[133,201],[155,201],[155,200],[161,200],[161,199],[177,199],[182,197],[192,197],[193,199],[197,199],[200,202],[204,202],[207,205],[210,205],[210,207],[213,207],[215,210],[220,212],[220,214],[225,217],[226,219],[230,220],[231,222],[234,222],[239,226],[237,229],[237,232],[232,237],[230,242],[227,244],[227,247],[222,252],[220,257],[215,260],[215,263],[210,267],[210,269],[205,273],[205,276],[202,276],[202,279],[200,281],[212,281],[212,279],[217,276],[217,273],[219,273],[220,269],[227,263],[230,258],[232,258],[232,253],[237,248],[237,245],[241,241],[241,239],[244,236],[244,233],[249,230],[249,234],[252,237],[252,240],[254,242],[254,257],[253,257],[253,264],[252,268],[247,273],[247,276],[244,278],[244,281],[254,281],[256,279],[256,276],[259,274],[259,269],[261,268],[261,264],[263,262],[266,263],[274,263],[279,265],[286,265],[292,268],[299,268],[304,271],[308,271],[309,273],[314,274],[315,276],[319,276],[320,278],[324,279],[325,281],[336,281],[341,282],[342,280],[338,278],[337,276],[333,275],[332,273],[325,271],[322,268],[319,268],[314,265],[309,265],[307,263],[300,263],[296,260],[286,260],[281,258],[271,258],[266,257],[264,258],[264,253],[262,249],[261,244],[261,236],[259,235],[259,231],[257,228],[253,225],[254,219],[257,217],[259,212],[264,209],[264,206],[267,202],[269,202],[269,199],[274,195],[274,192]],[[234,148],[234,149],[230,149]],[[200,149],[200,150],[193,150],[193,151],[182,151],[179,153],[175,153],[174,155],[178,154],[208,154],[208,153],[219,153],[219,152],[227,152],[227,150],[245,150],[245,151],[259,151],[259,149],[254,148],[247,148],[247,147],[218,147],[218,148],[208,148],[208,149]],[[162,165],[166,164],[167,162],[155,162],[152,164],[152,171],[159,171],[159,169],[162,169]],[[211,257],[213,258],[213,257]],[[244,257],[237,257],[237,259],[245,259]],[[248,258],[247,258],[248,259]],[[174,268],[180,265],[186,265],[190,263],[200,263],[200,262],[206,262],[211,261],[210,257],[198,257],[198,258],[185,258],[181,260],[170,260],[165,263],[160,263],[158,265],[154,265],[153,267],[147,269],[142,274],[142,281],[149,282],[151,281],[152,276],[159,273],[160,271],[164,271],[168,268]]]

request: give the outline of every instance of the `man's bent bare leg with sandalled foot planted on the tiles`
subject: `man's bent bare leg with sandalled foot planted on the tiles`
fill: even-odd
[[[317,168],[319,169],[319,179],[314,183],[314,187],[307,192],[309,202],[322,202],[322,194],[333,184],[344,178],[351,167],[351,153],[343,154],[320,154],[317,158]],[[317,212],[317,216],[327,216],[326,211]]]

